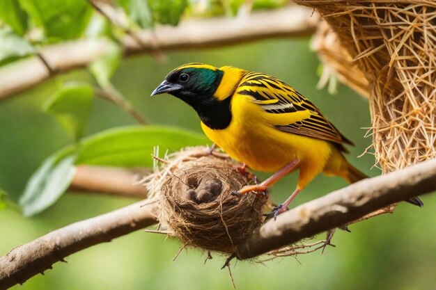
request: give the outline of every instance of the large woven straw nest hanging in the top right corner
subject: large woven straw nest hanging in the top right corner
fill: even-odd
[[[322,61],[369,96],[383,172],[435,158],[435,1],[296,2],[316,8],[329,24],[316,41]]]

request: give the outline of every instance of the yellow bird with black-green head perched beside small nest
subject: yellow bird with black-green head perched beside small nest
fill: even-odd
[[[321,172],[349,183],[367,176],[345,159],[353,145],[309,99],[287,83],[238,67],[187,63],[152,92],[168,93],[192,106],[203,132],[233,159],[252,170],[274,172],[238,194],[265,192],[299,169],[295,191],[272,210],[274,218]],[[406,200],[422,207],[419,198]]]

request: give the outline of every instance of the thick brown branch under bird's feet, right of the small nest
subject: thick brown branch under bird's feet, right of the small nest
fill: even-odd
[[[328,229],[351,223],[389,204],[436,190],[436,159],[364,179],[306,202],[270,220],[237,249],[239,259],[256,257]]]

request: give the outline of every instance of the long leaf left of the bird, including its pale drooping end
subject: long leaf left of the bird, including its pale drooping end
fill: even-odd
[[[70,186],[75,164],[151,167],[151,154],[157,145],[164,153],[205,143],[208,140],[201,134],[170,127],[129,126],[103,131],[46,159],[29,179],[20,206],[25,216],[33,216],[54,204]]]

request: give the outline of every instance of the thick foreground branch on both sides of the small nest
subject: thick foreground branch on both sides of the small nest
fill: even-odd
[[[291,209],[275,221],[268,221],[238,247],[238,257],[256,257],[350,223],[389,204],[435,190],[436,159],[365,179]],[[74,252],[152,225],[156,222],[153,204],[140,207],[145,203],[137,202],[68,225],[11,250],[8,255],[0,257],[0,290],[25,282]]]

